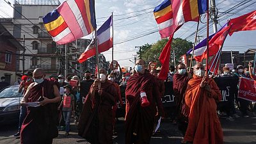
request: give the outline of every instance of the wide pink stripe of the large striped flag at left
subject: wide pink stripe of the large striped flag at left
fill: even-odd
[[[63,9],[63,10],[61,10]],[[74,13],[70,9],[70,7],[67,4],[67,1],[65,1],[63,4],[58,7],[58,12],[61,14],[63,19],[68,25],[68,28],[70,31],[72,31],[72,35],[77,38],[81,38],[83,36],[83,31],[81,30],[76,17],[74,16]],[[72,42],[72,41],[71,41]]]

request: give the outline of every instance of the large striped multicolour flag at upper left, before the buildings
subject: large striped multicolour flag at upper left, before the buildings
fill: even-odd
[[[57,44],[67,44],[96,29],[94,0],[67,0],[43,17],[44,26]]]

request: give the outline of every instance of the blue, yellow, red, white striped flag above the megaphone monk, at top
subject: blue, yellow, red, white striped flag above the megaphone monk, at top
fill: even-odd
[[[161,38],[173,35],[188,21],[198,21],[207,10],[207,0],[164,0],[154,9]]]

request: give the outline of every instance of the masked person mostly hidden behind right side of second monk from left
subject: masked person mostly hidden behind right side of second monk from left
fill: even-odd
[[[120,87],[117,83],[114,82],[114,78],[113,78],[113,75],[112,74],[109,74],[108,76],[108,80],[111,81],[115,88],[116,88],[116,92],[118,94],[118,97],[116,97],[115,99],[115,106],[113,106],[113,135],[117,136],[117,132],[116,132],[116,129],[115,129],[115,126],[116,126],[116,110],[118,108],[118,105],[117,105],[117,100],[119,101],[119,104],[120,106],[123,106],[123,100],[122,100],[122,97],[121,97],[121,91],[120,91]]]

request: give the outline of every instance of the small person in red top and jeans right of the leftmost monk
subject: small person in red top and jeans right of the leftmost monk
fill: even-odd
[[[72,86],[68,84],[64,86],[64,88],[65,88],[65,94],[62,97],[61,104],[58,107],[58,109],[60,110],[60,108],[62,108],[64,121],[65,121],[65,131],[66,131],[64,136],[68,136],[70,131],[70,117],[71,117],[71,114],[74,113],[75,99],[74,99],[74,95],[72,95],[71,93]]]

